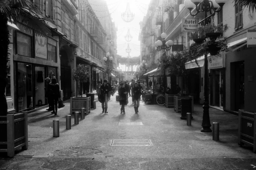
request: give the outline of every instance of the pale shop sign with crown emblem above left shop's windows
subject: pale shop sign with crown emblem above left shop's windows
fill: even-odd
[[[47,59],[47,38],[35,36],[35,55],[36,57]]]

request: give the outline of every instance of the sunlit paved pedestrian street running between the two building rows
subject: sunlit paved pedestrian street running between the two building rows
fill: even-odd
[[[115,95],[117,92],[115,93]],[[96,100],[84,120],[66,130],[69,101],[54,116],[45,109],[28,114],[28,149],[14,158],[2,157],[0,169],[86,169],[86,170],[232,170],[253,169],[256,155],[237,144],[238,119],[210,108],[211,123],[220,123],[220,140],[201,133],[202,107],[195,106],[192,126],[180,119],[180,112],[165,106],[140,102],[134,113],[131,97],[120,114],[115,95],[108,102],[108,114],[101,113]],[[60,137],[53,137],[53,120],[60,120]]]

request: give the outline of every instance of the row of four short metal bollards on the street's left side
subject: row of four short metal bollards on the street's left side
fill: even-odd
[[[96,105],[95,105],[96,106]],[[85,116],[85,108],[81,108],[81,120]],[[79,112],[75,112],[75,124],[79,124]],[[66,130],[71,129],[71,115],[66,115]],[[60,136],[59,120],[53,120],[53,137]]]

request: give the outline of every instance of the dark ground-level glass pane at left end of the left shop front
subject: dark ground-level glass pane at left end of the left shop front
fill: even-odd
[[[32,95],[32,65],[17,63],[17,96],[18,111],[33,107]]]

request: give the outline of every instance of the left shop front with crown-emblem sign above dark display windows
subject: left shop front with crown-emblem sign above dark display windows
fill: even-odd
[[[59,81],[58,37],[40,37],[16,30],[13,40],[16,112],[48,105],[45,78],[55,77]]]

